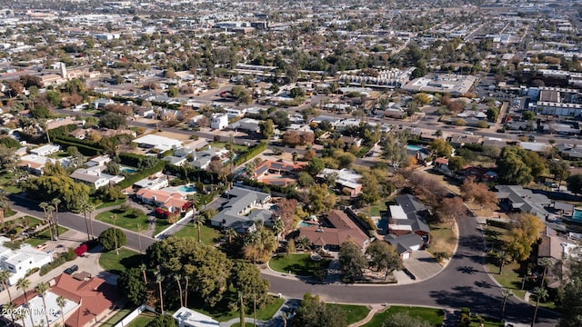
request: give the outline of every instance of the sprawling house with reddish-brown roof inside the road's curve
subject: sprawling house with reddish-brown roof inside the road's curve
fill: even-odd
[[[299,237],[306,237],[314,246],[338,250],[342,243],[352,241],[365,249],[370,242],[367,234],[346,213],[332,210],[318,226],[299,228]]]

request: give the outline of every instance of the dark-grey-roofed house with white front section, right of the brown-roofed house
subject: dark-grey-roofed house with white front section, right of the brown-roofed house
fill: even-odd
[[[428,208],[418,201],[416,196],[410,194],[398,195],[396,205],[389,205],[387,212],[381,212],[383,220],[387,221],[386,233],[396,236],[407,233],[416,233],[424,238],[430,233],[426,224],[429,214]]]

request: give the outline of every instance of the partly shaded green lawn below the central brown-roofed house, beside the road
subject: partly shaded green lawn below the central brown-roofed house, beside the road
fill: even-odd
[[[269,267],[276,272],[291,272],[298,276],[313,276],[322,268],[327,268],[329,260],[311,260],[310,253],[292,253],[271,258]]]

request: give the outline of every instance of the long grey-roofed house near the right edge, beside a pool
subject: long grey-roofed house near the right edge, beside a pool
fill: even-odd
[[[550,201],[546,195],[533,193],[520,185],[496,185],[499,205],[510,213],[532,213],[546,222],[554,215],[546,209]]]

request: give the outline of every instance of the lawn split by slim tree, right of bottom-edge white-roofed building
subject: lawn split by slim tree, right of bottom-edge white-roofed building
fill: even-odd
[[[232,294],[231,294],[232,295]],[[203,302],[196,302],[195,307],[193,308],[197,312],[202,312],[206,315],[209,315],[216,319],[218,322],[227,322],[231,319],[237,318],[239,316],[238,312],[233,312],[228,309],[228,303],[236,301],[236,296],[233,295],[229,299],[223,299],[223,301],[219,302],[214,308],[202,308],[196,307],[196,304],[203,305]],[[189,302],[189,301],[188,301]],[[268,303],[264,308],[256,308],[256,319],[267,321],[273,318],[273,315],[281,305],[283,305],[285,299],[279,299],[276,297],[271,297],[271,302]],[[247,300],[246,301],[246,317],[253,317],[253,301]]]

